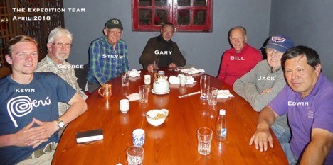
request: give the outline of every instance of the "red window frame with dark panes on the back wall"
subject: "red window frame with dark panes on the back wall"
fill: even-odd
[[[166,6],[154,6],[155,1],[151,0],[152,6],[139,6],[139,0],[132,0],[132,30],[133,31],[159,31],[161,25],[154,24],[155,10],[166,10],[167,21],[174,24],[177,32],[211,32],[213,21],[213,0],[206,0],[206,6],[178,6],[177,0],[168,0]],[[151,11],[149,25],[139,24],[139,9],[147,9]],[[179,25],[177,21],[177,11],[181,9],[189,10],[189,25]],[[206,20],[204,25],[194,25],[194,11],[206,10]]]

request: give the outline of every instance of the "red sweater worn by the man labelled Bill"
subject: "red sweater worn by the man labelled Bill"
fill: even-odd
[[[261,60],[263,60],[263,56],[259,50],[247,43],[239,53],[231,48],[223,53],[218,79],[232,86],[233,82],[248,73]]]

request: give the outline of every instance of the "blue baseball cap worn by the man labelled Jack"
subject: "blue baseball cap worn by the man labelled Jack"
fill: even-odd
[[[290,38],[285,35],[274,35],[270,37],[264,48],[271,48],[284,53],[292,47],[294,47],[294,42]]]

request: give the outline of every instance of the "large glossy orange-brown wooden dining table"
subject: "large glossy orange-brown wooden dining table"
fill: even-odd
[[[166,76],[179,72],[164,69]],[[130,93],[138,92],[144,84],[140,77],[130,78],[129,86],[122,86],[121,78],[112,79],[112,97],[102,98],[94,92],[88,99],[88,110],[66,128],[53,157],[53,164],[127,164],[126,149],[132,145],[132,131],[142,128],[146,132],[143,164],[287,164],[285,154],[273,136],[275,144],[267,152],[249,146],[255,132],[258,113],[250,104],[233,92],[231,86],[211,76],[211,86],[228,89],[233,98],[218,99],[216,106],[208,106],[200,95],[178,98],[186,93],[200,91],[200,75],[195,75],[194,85],[170,84],[170,93],[149,93],[148,103],[131,101],[128,113],[121,113],[119,101]],[[150,85],[152,89],[152,84]],[[166,108],[169,116],[165,123],[154,127],[144,116],[148,110]],[[218,110],[226,110],[228,135],[218,142],[213,137],[211,154],[202,156],[197,150],[196,130],[210,127],[215,130]],[[77,144],[75,132],[102,128],[104,140],[90,144]],[[272,132],[273,133],[273,132]]]

